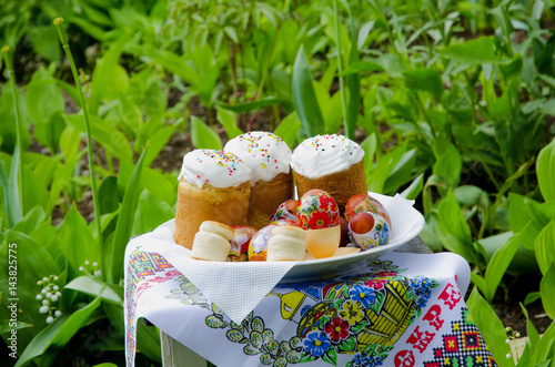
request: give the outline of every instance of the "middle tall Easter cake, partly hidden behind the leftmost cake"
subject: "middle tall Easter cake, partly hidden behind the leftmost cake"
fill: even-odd
[[[224,151],[235,154],[251,169],[246,224],[260,230],[268,225],[275,208],[293,196],[291,149],[272,133],[253,131],[230,140]]]

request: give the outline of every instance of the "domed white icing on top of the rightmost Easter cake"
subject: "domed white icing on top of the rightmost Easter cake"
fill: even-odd
[[[293,151],[291,167],[307,179],[317,179],[345,171],[363,156],[361,145],[343,135],[316,135]]]

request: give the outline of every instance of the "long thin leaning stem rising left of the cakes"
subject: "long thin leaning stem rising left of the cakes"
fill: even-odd
[[[62,18],[57,18],[54,19],[54,26],[58,28],[58,35],[60,37],[60,42],[62,43],[63,51],[65,52],[65,55],[68,57],[68,60],[70,62],[71,67],[71,73],[73,74],[73,80],[75,81],[75,86],[79,92],[79,101],[81,102],[81,109],[83,110],[83,116],[84,116],[84,130],[87,134],[87,156],[89,161],[89,171],[91,175],[91,192],[92,192],[92,206],[94,211],[94,224],[97,228],[97,236],[98,236],[98,242],[100,246],[100,253],[102,254],[102,259],[104,259],[103,256],[103,246],[102,246],[102,227],[100,223],[100,204],[98,200],[98,192],[97,192],[97,177],[94,174],[94,162],[93,162],[93,152],[92,152],[92,133],[91,133],[91,125],[89,122],[89,113],[87,112],[87,101],[84,99],[83,94],[83,89],[81,85],[81,81],[79,80],[79,73],[75,67],[75,61],[73,60],[73,55],[71,54],[71,50],[69,47],[69,41],[68,41],[68,34],[65,33],[65,29],[63,28],[63,19]],[[102,275],[105,276],[105,264],[104,262],[101,262],[102,266]]]

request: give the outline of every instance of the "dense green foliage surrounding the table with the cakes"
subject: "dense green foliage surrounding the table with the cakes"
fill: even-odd
[[[179,134],[184,149],[221,149],[259,123],[291,147],[337,132],[361,143],[369,190],[415,200],[422,238],[473,266],[468,307],[500,365],[505,336],[488,306],[500,290],[538,274],[527,299],[554,317],[552,3],[60,3],[8,1],[0,20],[0,41],[19,50],[4,52],[0,86],[0,268],[12,243],[30,254],[19,257],[30,269],[21,365],[123,325],[124,246],[174,216],[176,172],[153,167],[165,144]],[[61,44],[74,50],[73,80]],[[37,62],[32,74],[21,60]],[[61,299],[41,314],[38,282],[54,276]],[[518,366],[541,366],[555,327],[539,338],[528,326]],[[138,329],[138,349],[159,361],[155,328]]]

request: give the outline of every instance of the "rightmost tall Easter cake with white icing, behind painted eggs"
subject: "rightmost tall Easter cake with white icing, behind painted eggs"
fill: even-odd
[[[362,147],[343,135],[306,139],[291,157],[299,197],[320,188],[332,195],[343,212],[351,196],[367,193],[363,156]]]

